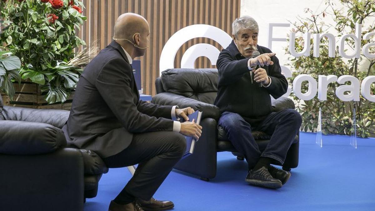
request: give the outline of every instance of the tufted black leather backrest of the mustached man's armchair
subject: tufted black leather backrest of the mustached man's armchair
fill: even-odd
[[[155,81],[156,92],[171,92],[213,104],[217,95],[217,69],[174,68],[162,72]],[[160,86],[160,81],[162,86]]]

